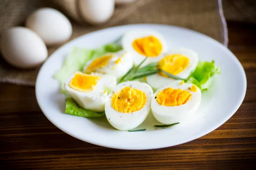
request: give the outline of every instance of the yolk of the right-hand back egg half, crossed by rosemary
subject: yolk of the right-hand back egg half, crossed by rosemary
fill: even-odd
[[[161,70],[164,70],[169,74],[177,75],[187,68],[189,65],[189,58],[181,54],[168,55],[161,59],[158,65]],[[160,72],[159,74],[168,77],[163,72]]]

